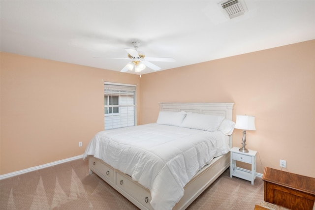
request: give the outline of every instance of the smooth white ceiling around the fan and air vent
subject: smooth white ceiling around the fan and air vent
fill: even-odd
[[[1,0],[0,50],[120,71],[128,60],[107,58],[138,41],[147,57],[176,59],[152,61],[166,70],[315,39],[315,0],[245,0],[234,19],[220,2]]]

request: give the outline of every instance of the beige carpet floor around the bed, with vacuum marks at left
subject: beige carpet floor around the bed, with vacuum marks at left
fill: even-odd
[[[229,177],[229,169],[188,210],[253,210],[263,201],[263,181]],[[97,175],[74,160],[0,180],[1,210],[137,210]]]

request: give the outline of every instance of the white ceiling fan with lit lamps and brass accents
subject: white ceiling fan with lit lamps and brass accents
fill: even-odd
[[[175,59],[173,58],[146,57],[143,53],[138,52],[138,47],[140,46],[139,42],[132,42],[132,45],[134,47],[134,50],[127,48],[125,49],[128,53],[128,58],[121,58],[131,60],[129,63],[126,64],[126,66],[121,70],[121,72],[126,72],[128,70],[132,71],[133,69],[135,72],[140,72],[144,70],[146,67],[158,71],[161,68],[149,61],[175,62]]]

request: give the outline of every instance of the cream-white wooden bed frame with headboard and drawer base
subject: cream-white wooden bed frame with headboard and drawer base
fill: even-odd
[[[224,116],[232,120],[234,103],[159,103],[160,111],[186,111],[200,114]],[[232,136],[229,137],[232,148]],[[214,158],[210,164],[202,168],[185,185],[184,196],[174,206],[173,210],[186,209],[212,182],[214,182],[230,166],[230,152]],[[93,172],[106,181],[114,189],[125,196],[141,210],[153,210],[150,205],[151,194],[131,177],[112,168],[102,160],[89,157],[90,174]]]

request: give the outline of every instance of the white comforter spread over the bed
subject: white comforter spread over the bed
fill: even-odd
[[[84,158],[94,155],[130,175],[150,189],[155,210],[170,210],[196,172],[228,151],[220,131],[153,123],[98,132]]]

